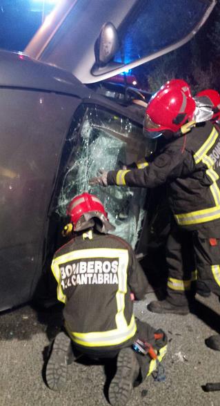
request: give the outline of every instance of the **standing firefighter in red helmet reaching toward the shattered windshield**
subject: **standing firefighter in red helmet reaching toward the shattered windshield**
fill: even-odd
[[[198,119],[203,121],[197,124]],[[220,137],[210,110],[199,110],[184,88],[161,86],[146,108],[143,131],[166,144],[144,168],[101,171],[90,184],[154,188],[166,184],[172,211],[167,241],[166,299],[148,305],[156,313],[189,312],[191,273],[220,293]],[[190,269],[191,268],[191,269]],[[220,344],[220,342],[219,342]],[[219,347],[220,349],[220,347]]]

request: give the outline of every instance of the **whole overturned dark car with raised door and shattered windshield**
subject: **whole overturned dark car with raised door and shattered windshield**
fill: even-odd
[[[144,1],[147,10],[148,3]],[[184,3],[186,9],[186,1],[177,3],[181,10]],[[111,0],[104,7],[101,0],[64,0],[23,53],[0,51],[1,311],[27,302],[41,290],[52,254],[63,243],[66,204],[75,194],[99,195],[115,232],[139,255],[146,252],[141,235],[148,191],[88,184],[99,168],[119,168],[120,162],[134,162],[153,148],[142,135],[143,111],[137,113],[132,103],[135,90],[130,90],[130,96],[126,92],[126,97],[117,91],[111,95],[103,81],[190,39],[215,1],[187,3],[193,24],[186,13],[176,41],[170,28],[170,39],[157,46],[159,31],[153,34],[150,21],[151,50],[146,52],[143,46],[141,58],[134,21],[144,8],[138,0]],[[125,53],[129,21],[135,28],[130,41],[138,47],[128,52],[127,64],[126,57],[119,57],[119,43]],[[190,28],[184,37],[186,22]],[[106,40],[110,41],[107,54]],[[122,96],[116,97],[119,93]]]

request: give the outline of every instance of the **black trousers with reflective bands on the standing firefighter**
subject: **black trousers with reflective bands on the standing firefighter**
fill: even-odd
[[[167,300],[172,305],[188,305],[194,295],[191,282],[198,280],[220,296],[220,221],[181,227],[172,222],[166,247],[168,262]]]

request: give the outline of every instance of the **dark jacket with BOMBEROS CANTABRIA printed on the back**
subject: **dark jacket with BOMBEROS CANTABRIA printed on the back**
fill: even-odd
[[[143,298],[148,282],[126,241],[81,233],[54,254],[52,272],[66,329],[77,345],[115,348],[134,337],[130,293]]]

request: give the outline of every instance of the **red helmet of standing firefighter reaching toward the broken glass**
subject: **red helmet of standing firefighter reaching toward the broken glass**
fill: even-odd
[[[185,81],[167,81],[148,103],[143,132],[148,138],[159,137],[163,131],[177,133],[183,124],[192,120],[195,108],[195,101]]]

